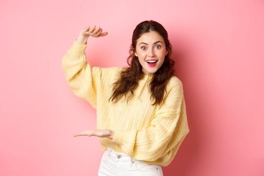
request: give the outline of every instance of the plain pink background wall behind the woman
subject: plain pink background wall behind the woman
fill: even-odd
[[[1,1],[0,175],[97,175],[96,111],[66,84],[61,59],[88,25],[87,60],[126,66],[144,20],[169,34],[190,133],[164,175],[264,175],[264,2]]]

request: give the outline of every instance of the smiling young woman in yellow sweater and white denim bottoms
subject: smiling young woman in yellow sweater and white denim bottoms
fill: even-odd
[[[189,133],[182,81],[174,76],[171,44],[155,21],[133,32],[128,67],[91,66],[87,39],[103,29],[81,30],[62,59],[73,93],[97,110],[97,129],[74,136],[97,136],[104,152],[99,175],[163,175]]]

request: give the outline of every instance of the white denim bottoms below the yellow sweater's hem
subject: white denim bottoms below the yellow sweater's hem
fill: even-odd
[[[163,173],[161,165],[146,164],[141,160],[131,158],[126,153],[119,153],[108,147],[101,158],[98,175],[163,176]]]

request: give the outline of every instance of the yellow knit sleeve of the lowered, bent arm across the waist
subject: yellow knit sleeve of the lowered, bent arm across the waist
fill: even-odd
[[[135,159],[156,161],[179,148],[188,133],[183,84],[179,81],[169,90],[149,127],[115,131],[112,142]]]

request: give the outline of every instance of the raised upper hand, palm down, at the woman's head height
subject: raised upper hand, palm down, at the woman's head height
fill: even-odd
[[[86,44],[87,39],[92,36],[92,37],[104,37],[108,34],[108,32],[103,32],[103,29],[98,27],[96,28],[96,25],[93,27],[87,27],[83,28],[80,31],[80,34],[76,41],[82,45]]]

